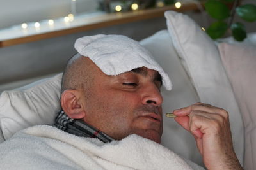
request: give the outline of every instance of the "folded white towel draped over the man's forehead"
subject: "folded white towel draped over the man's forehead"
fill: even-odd
[[[168,74],[153,59],[148,50],[127,36],[84,36],[76,40],[75,48],[80,55],[89,57],[103,73],[116,76],[138,67],[158,71],[166,90],[172,89]]]

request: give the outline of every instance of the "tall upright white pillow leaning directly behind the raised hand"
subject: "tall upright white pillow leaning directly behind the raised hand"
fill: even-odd
[[[243,165],[243,121],[217,46],[187,15],[175,11],[166,11],[164,15],[173,45],[186,61],[200,101],[228,111],[234,149]]]

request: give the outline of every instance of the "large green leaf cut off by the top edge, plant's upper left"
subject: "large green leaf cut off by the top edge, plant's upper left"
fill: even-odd
[[[217,20],[224,20],[230,15],[230,10],[228,9],[227,5],[216,0],[206,1],[205,10],[212,18]]]

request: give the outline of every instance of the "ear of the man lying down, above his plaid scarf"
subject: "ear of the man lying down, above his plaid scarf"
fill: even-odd
[[[65,90],[61,94],[61,107],[68,117],[73,119],[80,119],[86,117],[83,109],[82,92],[79,90]]]

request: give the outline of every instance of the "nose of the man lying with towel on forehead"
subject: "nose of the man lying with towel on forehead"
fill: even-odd
[[[154,83],[149,83],[144,89],[141,97],[143,104],[152,104],[153,106],[161,106],[163,97],[160,90]]]

